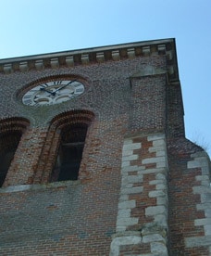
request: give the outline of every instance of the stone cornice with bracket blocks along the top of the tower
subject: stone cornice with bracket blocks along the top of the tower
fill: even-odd
[[[126,58],[166,55],[170,81],[179,80],[175,39],[136,42],[122,45],[108,45],[57,53],[34,55],[19,58],[0,59],[0,72],[58,69],[91,63],[118,61]]]

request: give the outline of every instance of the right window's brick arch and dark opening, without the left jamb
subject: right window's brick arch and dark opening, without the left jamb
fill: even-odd
[[[74,110],[58,115],[52,122],[60,134],[52,182],[78,179],[83,147],[93,117],[89,110]]]

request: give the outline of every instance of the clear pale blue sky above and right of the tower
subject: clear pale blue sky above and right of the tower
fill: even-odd
[[[173,37],[186,136],[211,155],[210,0],[0,0],[0,58]]]

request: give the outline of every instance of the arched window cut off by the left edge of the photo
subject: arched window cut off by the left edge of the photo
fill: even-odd
[[[28,126],[30,126],[30,122],[20,117],[0,121],[0,186],[6,186],[8,176],[12,176],[13,172],[16,172],[13,159],[21,136]]]

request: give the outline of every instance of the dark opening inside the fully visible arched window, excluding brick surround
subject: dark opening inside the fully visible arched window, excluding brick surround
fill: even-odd
[[[52,181],[77,180],[87,125],[74,124],[62,131]]]

